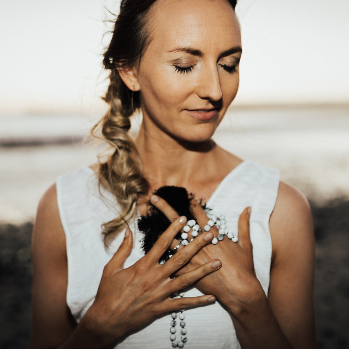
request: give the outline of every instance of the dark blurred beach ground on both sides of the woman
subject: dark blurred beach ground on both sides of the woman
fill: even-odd
[[[316,237],[315,313],[319,349],[349,347],[349,201],[312,204]],[[28,346],[32,224],[0,225],[0,347]]]

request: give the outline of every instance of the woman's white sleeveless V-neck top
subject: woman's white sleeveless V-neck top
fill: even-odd
[[[245,207],[251,206],[250,236],[253,245],[254,268],[264,292],[269,287],[271,238],[269,218],[273,211],[280,175],[252,161],[244,161],[220,183],[207,206],[226,216],[227,227],[238,232],[238,219]],[[118,204],[107,191],[99,190],[94,171],[83,167],[57,180],[57,201],[66,236],[68,258],[67,305],[79,322],[93,303],[101,280],[103,267],[120,246],[121,233],[106,249],[101,224],[118,216]],[[133,227],[134,248],[125,268],[142,258],[142,234]],[[185,296],[202,293],[193,288]],[[118,295],[115,295],[118,296]],[[120,348],[171,348],[170,315],[165,315],[146,328],[118,343]],[[240,348],[231,318],[216,301],[212,305],[185,310],[185,328],[192,348]]]

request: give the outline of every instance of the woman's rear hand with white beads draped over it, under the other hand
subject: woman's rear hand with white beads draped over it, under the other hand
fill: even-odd
[[[177,212],[162,198],[152,203],[163,212],[167,218],[172,221],[178,217]],[[201,231],[207,224],[208,217],[195,200],[192,200],[192,212],[200,225]],[[257,277],[255,277],[252,257],[252,244],[249,233],[249,218],[251,208],[246,207],[239,218],[238,231],[239,241],[237,243],[225,238],[218,244],[207,245],[202,248],[178,273],[178,275],[197,268],[205,261],[219,258],[222,262],[222,268],[211,275],[207,275],[198,282],[197,287],[204,294],[213,294],[217,299],[227,306],[232,313],[241,310],[246,303],[253,303],[258,300],[263,292]],[[217,237],[218,229],[213,226],[211,232]]]

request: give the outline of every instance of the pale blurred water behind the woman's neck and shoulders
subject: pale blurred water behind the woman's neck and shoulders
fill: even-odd
[[[32,221],[57,176],[96,161],[100,149],[79,142],[93,122],[77,115],[0,117],[0,222]],[[62,139],[75,143],[57,144]],[[349,198],[349,106],[233,109],[214,139],[280,169],[312,200]]]

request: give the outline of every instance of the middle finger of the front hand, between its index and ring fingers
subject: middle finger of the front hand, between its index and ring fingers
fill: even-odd
[[[194,239],[190,244],[181,248],[173,257],[167,261],[162,268],[166,270],[169,275],[172,275],[179,268],[187,264],[194,255],[204,246],[212,241],[214,235],[212,232],[206,232]]]

